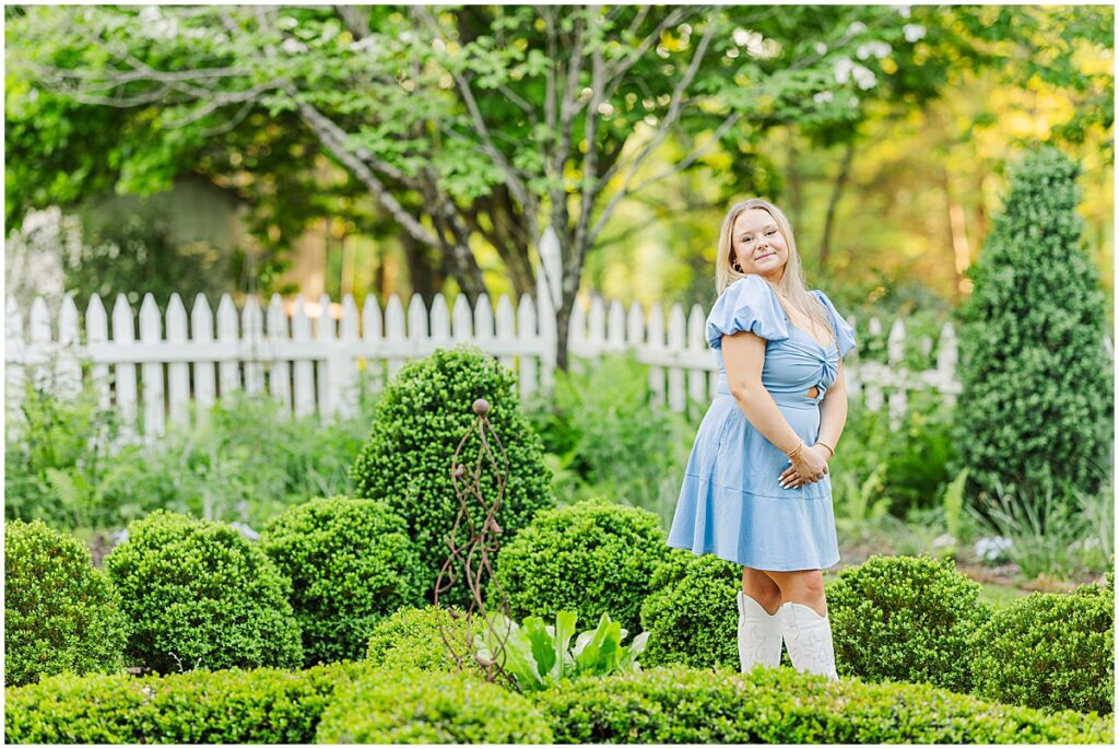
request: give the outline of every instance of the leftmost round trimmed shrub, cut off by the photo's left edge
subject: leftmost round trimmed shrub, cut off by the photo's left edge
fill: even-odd
[[[4,525],[4,685],[123,665],[120,596],[90,550],[43,521]]]

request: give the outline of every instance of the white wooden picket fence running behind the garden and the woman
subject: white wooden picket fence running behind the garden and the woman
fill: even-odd
[[[137,335],[135,315],[123,294],[113,305],[111,326],[101,299],[94,297],[84,330],[69,297],[55,312],[36,298],[27,330],[22,310],[9,298],[4,346],[9,418],[16,415],[18,421],[18,409],[12,406],[23,394],[27,375],[40,387],[73,394],[82,386],[83,363],[102,408],[117,409],[125,424],[142,415],[141,431],[148,440],[164,433],[168,420],[188,421],[190,401],[205,411],[215,400],[239,390],[271,393],[297,415],[349,414],[356,406],[363,369],[378,372],[375,363],[384,362],[383,380],[407,359],[459,343],[476,344],[517,372],[523,396],[551,388],[555,321],[546,294],[538,294],[536,301],[526,294],[516,309],[502,296],[496,313],[486,297],[471,310],[460,296],[449,310],[443,297],[436,296],[427,310],[417,294],[406,312],[395,294],[384,310],[372,296],[360,310],[347,296],[337,320],[330,310],[327,296],[317,306],[297,297],[291,310],[278,294],[266,310],[254,297],[238,310],[229,296],[223,296],[215,316],[199,294],[188,324],[178,294],[172,294],[166,316],[160,315],[156,299],[145,294]],[[659,305],[647,317],[640,305],[626,309],[618,301],[593,297],[587,309],[575,307],[570,350],[574,357],[594,358],[634,349],[637,358],[650,365],[653,399],[683,411],[689,399],[705,403],[715,393],[715,362],[704,338],[705,317],[698,305],[687,317],[676,305],[666,326]],[[868,331],[881,334],[876,319],[869,321]],[[859,363],[850,355],[845,366],[852,396],[862,394],[874,410],[887,401],[895,416],[904,413],[908,390],[933,387],[955,397],[959,386],[953,378],[951,326],[941,333],[935,369],[906,372],[901,366],[904,347],[905,328],[896,320],[890,331],[887,363]]]

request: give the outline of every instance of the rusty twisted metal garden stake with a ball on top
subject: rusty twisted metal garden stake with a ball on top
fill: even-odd
[[[451,483],[454,485],[454,493],[459,497],[459,514],[454,518],[454,526],[446,537],[446,545],[451,554],[443,562],[435,581],[435,606],[439,606],[440,593],[445,593],[454,587],[459,580],[466,583],[470,596],[467,610],[464,612],[449,609],[452,619],[459,622],[459,627],[444,627],[442,618],[439,619],[440,634],[443,643],[454,661],[458,670],[462,670],[463,663],[469,658],[481,666],[488,681],[506,681],[516,683],[510,674],[501,668],[505,661],[505,642],[508,633],[504,628],[495,628],[495,624],[487,614],[486,580],[493,577],[493,568],[490,564],[490,555],[497,552],[500,545],[501,526],[497,524],[497,513],[501,507],[501,498],[505,495],[505,485],[509,471],[509,459],[505,455],[501,440],[490,424],[487,414],[490,404],[485,399],[478,399],[473,403],[473,412],[478,414],[478,420],[459,440],[459,447],[454,451],[451,460]],[[461,461],[462,448],[472,433],[477,431],[479,438],[478,458],[474,460],[472,469]],[[490,448],[490,443],[497,446],[497,451],[501,457],[498,464]],[[497,496],[492,502],[488,502],[482,494],[482,459],[488,459],[488,468],[497,477]],[[481,524],[476,525],[470,513],[470,505],[478,503],[482,512]],[[476,516],[477,516],[476,512]],[[464,530],[464,533],[462,532]],[[460,545],[460,535],[464,536]],[[493,580],[493,589],[497,593],[495,600],[490,601],[496,610],[506,617],[509,614],[509,602],[501,591],[497,580]],[[491,611],[492,612],[492,611]],[[487,658],[478,653],[472,636],[474,617],[481,617],[486,628],[490,630],[489,642],[496,642],[497,647],[492,648],[492,658]]]

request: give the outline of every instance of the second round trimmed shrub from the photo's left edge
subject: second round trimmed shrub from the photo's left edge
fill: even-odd
[[[169,673],[303,663],[289,582],[236,528],[159,509],[129,524],[105,568],[138,664]]]

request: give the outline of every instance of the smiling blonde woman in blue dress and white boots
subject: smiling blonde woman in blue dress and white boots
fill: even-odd
[[[838,680],[822,570],[839,561],[828,460],[847,420],[843,357],[854,330],[808,291],[792,228],[750,199],[727,213],[707,343],[717,394],[696,434],[668,544],[743,565],[743,672],[777,666]]]

